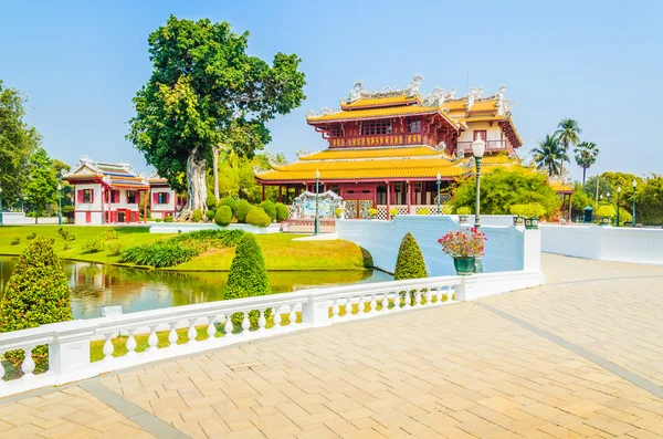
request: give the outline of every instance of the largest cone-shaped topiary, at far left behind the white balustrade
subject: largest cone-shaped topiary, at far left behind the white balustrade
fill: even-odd
[[[21,254],[7,282],[0,302],[0,332],[72,320],[71,294],[53,241],[38,237]],[[48,345],[36,346],[32,353],[38,367],[48,364]],[[12,351],[4,356],[20,363],[24,354]]]

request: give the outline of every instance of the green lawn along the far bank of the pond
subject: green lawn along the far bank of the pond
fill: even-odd
[[[55,240],[55,251],[63,259],[119,264],[117,257],[108,250],[98,253],[85,253],[84,244],[97,234],[116,230],[119,239],[110,241],[125,247],[150,243],[171,238],[171,234],[151,234],[144,227],[109,227],[109,226],[63,226],[70,234],[75,234],[74,241],[67,241],[71,247],[64,250],[65,241],[57,233],[60,226],[2,226],[0,227],[0,254],[19,255],[30,242],[27,237],[36,233]],[[369,266],[361,248],[348,241],[293,241],[298,234],[273,233],[257,234],[255,239],[262,248],[269,271],[297,270],[362,270]],[[20,238],[18,245],[11,245],[14,238]],[[177,271],[228,271],[233,249],[211,249],[183,264],[168,270]],[[130,264],[120,264],[130,265]]]

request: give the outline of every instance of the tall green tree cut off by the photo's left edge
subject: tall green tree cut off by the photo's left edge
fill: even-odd
[[[41,143],[36,129],[24,121],[25,101],[0,81],[0,188],[9,203],[21,198],[30,157]]]

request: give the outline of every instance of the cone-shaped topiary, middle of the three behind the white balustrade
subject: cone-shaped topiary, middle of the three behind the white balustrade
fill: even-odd
[[[267,270],[265,269],[265,260],[262,250],[255,237],[252,233],[245,233],[235,249],[235,255],[230,264],[230,273],[228,274],[228,284],[223,299],[241,299],[252,297],[254,295],[271,294],[270,281],[267,280]],[[271,309],[265,311],[265,318],[270,316]],[[234,313],[232,315],[233,327],[240,328],[244,313]],[[254,310],[249,313],[251,327],[257,327],[260,311]]]

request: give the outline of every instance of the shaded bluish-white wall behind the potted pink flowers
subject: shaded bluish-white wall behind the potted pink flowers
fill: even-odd
[[[339,239],[361,245],[370,252],[376,266],[389,272],[394,270],[403,236],[411,232],[421,248],[431,276],[455,274],[453,260],[442,252],[438,239],[451,230],[461,228],[465,227],[461,227],[454,217],[450,216],[403,215],[392,221],[340,220],[336,222]],[[536,261],[529,264],[524,262],[525,230],[513,226],[482,226],[481,229],[487,238],[483,258],[484,272],[540,270],[540,264]],[[538,239],[538,231],[533,230],[527,233],[534,240]],[[540,259],[537,251],[530,251],[529,254],[530,258]]]

